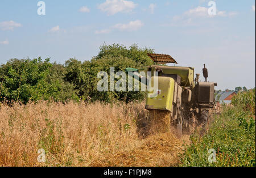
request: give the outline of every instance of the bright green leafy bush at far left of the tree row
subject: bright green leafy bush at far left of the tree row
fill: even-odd
[[[73,86],[61,79],[63,70],[60,65],[50,63],[49,58],[10,60],[0,68],[0,101],[26,104],[29,100],[76,99]]]

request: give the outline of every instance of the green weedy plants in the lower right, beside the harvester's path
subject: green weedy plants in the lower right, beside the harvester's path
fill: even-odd
[[[191,136],[191,145],[181,155],[182,166],[255,167],[255,113],[245,109],[243,102],[238,103],[235,107],[224,105],[206,135]],[[210,149],[216,150],[215,163],[208,161]]]

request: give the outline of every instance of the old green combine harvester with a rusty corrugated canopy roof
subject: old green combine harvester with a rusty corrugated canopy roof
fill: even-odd
[[[199,82],[200,74],[196,74],[194,78],[193,67],[177,67],[177,62],[169,55],[148,56],[155,65],[147,66],[147,71],[151,72],[152,86],[154,80],[158,79],[158,90],[147,92],[146,109],[149,112],[143,124],[144,128],[148,132],[166,132],[174,126],[179,136],[184,129],[192,132],[196,123],[207,129],[209,112],[215,107],[214,87],[217,83],[207,81],[208,70],[205,65],[205,82]],[[174,63],[175,66],[166,66],[166,63]],[[155,76],[156,71],[158,76]],[[133,74],[135,79],[144,84],[150,82],[137,69],[127,68],[126,72]]]

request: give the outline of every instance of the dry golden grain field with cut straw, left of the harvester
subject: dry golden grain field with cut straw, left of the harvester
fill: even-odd
[[[144,104],[0,105],[0,166],[177,166],[183,141],[140,137]],[[38,150],[46,150],[39,163]]]

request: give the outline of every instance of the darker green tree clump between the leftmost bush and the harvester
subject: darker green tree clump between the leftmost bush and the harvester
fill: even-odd
[[[141,49],[137,45],[131,45],[127,49],[123,45],[102,45],[100,52],[91,61],[81,63],[77,60],[69,60],[65,63],[67,67],[66,80],[73,83],[75,89],[79,91],[82,100],[100,100],[111,103],[115,100],[126,101],[143,100],[144,92],[99,92],[97,83],[100,79],[97,74],[105,71],[110,74],[110,67],[114,67],[115,72],[125,71],[127,67],[134,67],[146,71],[146,66],[151,65],[152,61],[147,53],[152,53],[152,49]]]

